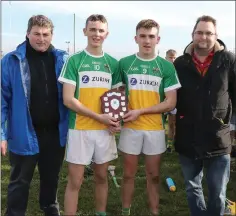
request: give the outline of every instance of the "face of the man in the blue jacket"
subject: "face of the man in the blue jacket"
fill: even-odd
[[[33,26],[27,33],[30,45],[39,52],[45,52],[51,44],[52,32],[51,28]]]

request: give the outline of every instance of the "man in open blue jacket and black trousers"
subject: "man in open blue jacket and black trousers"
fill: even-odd
[[[51,45],[53,23],[43,15],[28,22],[26,41],[1,62],[1,153],[11,165],[7,216],[24,216],[35,166],[45,216],[59,213],[57,186],[68,131],[68,110],[57,82],[66,52]]]

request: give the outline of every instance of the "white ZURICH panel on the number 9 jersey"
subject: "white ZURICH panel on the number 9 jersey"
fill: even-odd
[[[161,77],[149,74],[128,74],[129,90],[144,90],[159,93],[161,80]]]

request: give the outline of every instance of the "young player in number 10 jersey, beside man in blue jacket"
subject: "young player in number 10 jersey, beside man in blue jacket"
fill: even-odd
[[[65,215],[75,215],[84,168],[93,160],[96,215],[106,215],[108,162],[117,158],[115,136],[108,128],[119,128],[116,118],[101,113],[100,97],[119,87],[118,62],[102,50],[108,35],[103,15],[86,20],[84,35],[87,47],[70,56],[59,81],[63,82],[64,104],[71,110],[66,151],[68,183],[65,192]]]

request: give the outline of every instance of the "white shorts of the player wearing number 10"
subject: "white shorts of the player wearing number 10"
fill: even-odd
[[[103,164],[118,157],[115,136],[107,130],[69,130],[66,161]]]

